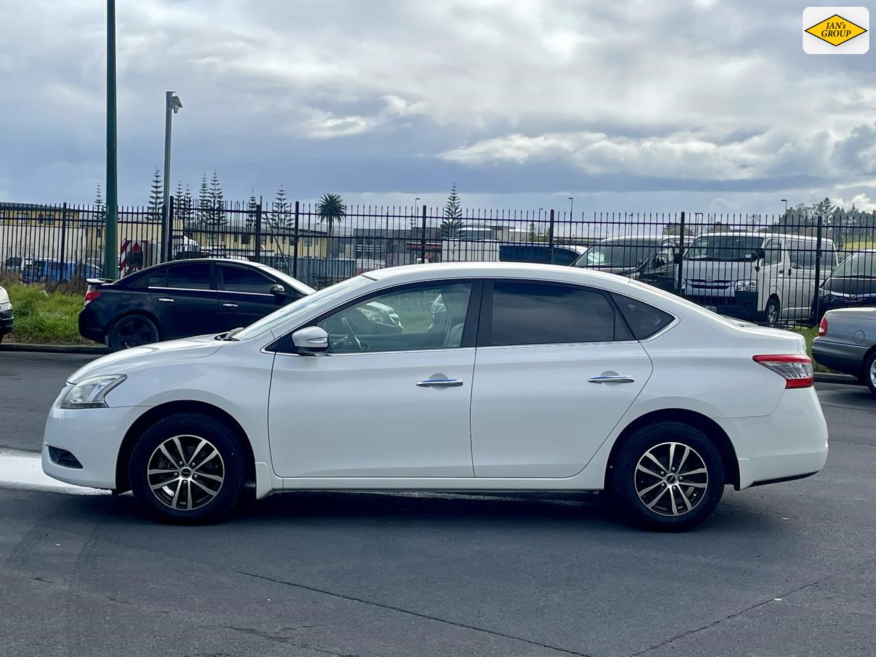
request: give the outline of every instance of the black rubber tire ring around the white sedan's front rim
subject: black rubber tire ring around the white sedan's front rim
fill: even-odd
[[[172,509],[161,504],[152,494],[145,475],[152,452],[168,438],[193,434],[212,442],[222,456],[225,479],[216,497],[194,511]],[[240,438],[230,427],[201,413],[177,413],[159,420],[145,430],[131,452],[128,480],[138,504],[153,518],[177,525],[203,525],[228,514],[241,498],[246,478],[245,450]]]

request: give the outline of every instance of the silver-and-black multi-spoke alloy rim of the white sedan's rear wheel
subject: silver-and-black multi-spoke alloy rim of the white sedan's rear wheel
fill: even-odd
[[[709,486],[709,470],[696,449],[682,442],[661,442],[639,459],[633,475],[636,495],[661,516],[693,511]]]

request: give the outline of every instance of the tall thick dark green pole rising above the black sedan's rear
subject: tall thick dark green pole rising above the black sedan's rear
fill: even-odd
[[[116,0],[107,0],[107,217],[103,275],[118,275],[118,177],[116,137]]]

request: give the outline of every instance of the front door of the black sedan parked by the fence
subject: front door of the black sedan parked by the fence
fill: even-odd
[[[293,289],[272,294],[272,286],[279,281],[264,272],[247,265],[230,263],[215,264],[219,286],[219,330],[227,331],[238,326],[249,326],[280,306],[300,298]]]

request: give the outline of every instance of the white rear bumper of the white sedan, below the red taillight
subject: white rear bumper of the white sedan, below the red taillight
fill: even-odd
[[[815,388],[786,390],[770,415],[716,421],[736,450],[739,489],[808,477],[827,463],[827,422]]]

